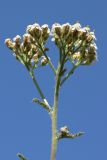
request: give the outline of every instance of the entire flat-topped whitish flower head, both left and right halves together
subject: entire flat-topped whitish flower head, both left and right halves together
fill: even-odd
[[[28,68],[36,68],[39,64],[48,64],[50,58],[46,55],[45,43],[49,36],[60,50],[60,56],[65,55],[65,62],[70,60],[74,65],[89,65],[97,59],[97,47],[94,32],[89,27],[81,27],[80,23],[60,25],[55,23],[50,30],[47,24],[40,26],[35,23],[27,26],[26,33],[21,38],[17,35],[13,40],[5,40],[16,59]]]

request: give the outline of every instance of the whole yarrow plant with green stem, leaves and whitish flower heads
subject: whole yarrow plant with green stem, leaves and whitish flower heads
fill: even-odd
[[[49,37],[58,47],[59,59],[58,66],[55,68],[52,60],[47,55],[46,42]],[[40,26],[35,23],[27,26],[26,33],[21,38],[17,35],[13,40],[10,38],[5,40],[5,44],[11,49],[15,58],[21,62],[28,70],[37,90],[40,99],[34,98],[33,102],[39,104],[50,115],[52,120],[52,145],[51,160],[56,159],[57,143],[63,138],[74,139],[83,135],[83,132],[71,133],[67,126],[57,129],[57,109],[59,91],[64,82],[74,73],[79,66],[91,65],[97,60],[97,46],[94,32],[90,31],[90,27],[81,27],[80,23],[71,25],[69,23],[55,23],[52,29],[47,24]],[[65,68],[65,64],[70,62],[71,68]],[[49,65],[55,76],[55,87],[53,105],[50,105],[46,99],[35,76],[35,70],[40,66]],[[21,160],[26,160],[22,154],[18,154]]]

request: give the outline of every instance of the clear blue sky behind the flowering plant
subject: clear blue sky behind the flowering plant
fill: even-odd
[[[51,121],[31,103],[38,93],[25,70],[4,45],[5,38],[22,35],[28,24],[75,23],[96,30],[98,59],[81,67],[61,90],[58,127],[68,125],[85,135],[58,144],[57,160],[105,160],[107,158],[107,2],[106,0],[1,0],[0,1],[0,159],[17,160],[17,152],[29,160],[49,160]],[[54,44],[49,44],[54,48]],[[57,49],[50,51],[55,60]],[[52,102],[53,76],[49,68],[37,78]],[[51,87],[52,86],[52,87]]]

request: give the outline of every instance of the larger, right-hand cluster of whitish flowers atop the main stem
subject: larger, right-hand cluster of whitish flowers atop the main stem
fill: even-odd
[[[97,59],[97,46],[94,42],[96,38],[88,26],[82,28],[80,23],[55,23],[52,26],[52,36],[58,48],[64,48],[64,54],[72,63],[89,65]]]

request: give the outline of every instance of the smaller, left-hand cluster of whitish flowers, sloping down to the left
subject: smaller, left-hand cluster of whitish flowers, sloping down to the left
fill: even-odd
[[[21,38],[17,35],[13,40],[5,40],[5,44],[12,50],[16,59],[24,64],[27,68],[36,68],[38,63],[46,65],[48,57],[45,57],[45,43],[49,37],[50,30],[48,25],[40,26],[35,23],[27,26],[26,33]]]

